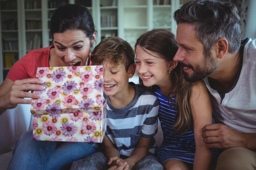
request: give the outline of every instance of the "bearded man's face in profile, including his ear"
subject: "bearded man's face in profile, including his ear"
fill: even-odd
[[[174,60],[183,66],[186,81],[196,82],[218,69],[216,52],[204,51],[204,45],[197,39],[196,31],[191,24],[178,24],[176,42],[179,48]]]

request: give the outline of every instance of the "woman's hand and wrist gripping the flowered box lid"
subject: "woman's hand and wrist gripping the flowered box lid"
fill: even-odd
[[[15,82],[6,78],[0,86],[0,109],[12,109],[17,104],[32,104],[32,99],[24,98],[40,98],[40,94],[28,91],[44,90],[45,86],[41,85],[42,83],[44,82],[37,78],[16,80]]]

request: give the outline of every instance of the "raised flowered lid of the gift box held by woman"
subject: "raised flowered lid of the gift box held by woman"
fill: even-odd
[[[103,110],[103,66],[40,67],[36,77],[45,89],[31,106],[32,115]]]

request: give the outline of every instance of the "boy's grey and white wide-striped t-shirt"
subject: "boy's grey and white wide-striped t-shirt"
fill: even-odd
[[[125,97],[125,96],[124,96]],[[135,85],[133,101],[125,108],[114,108],[107,96],[106,135],[120,155],[131,156],[140,137],[151,138],[149,152],[154,153],[159,101],[156,96]]]

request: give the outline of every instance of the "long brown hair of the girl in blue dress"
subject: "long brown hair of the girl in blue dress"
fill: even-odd
[[[161,54],[166,61],[173,61],[173,57],[178,50],[175,35],[163,29],[151,30],[144,33],[138,38],[135,48],[138,45],[144,50]],[[173,128],[176,128],[175,133],[184,134],[189,130],[192,121],[192,110],[190,107],[192,84],[185,80],[180,64],[173,69],[170,79],[172,79],[172,89],[170,89],[168,95],[168,102],[172,102],[172,97],[176,95],[175,104],[173,103],[173,105],[177,111]],[[143,85],[142,79],[140,79],[140,85]],[[159,87],[153,85],[152,87],[145,88],[155,92]]]

